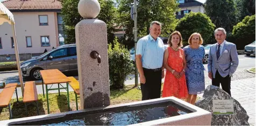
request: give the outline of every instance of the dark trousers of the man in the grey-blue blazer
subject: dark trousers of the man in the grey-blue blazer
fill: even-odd
[[[229,93],[229,95],[231,96],[231,92],[230,92],[231,77],[230,77],[230,75],[227,75],[226,77],[222,77],[217,70],[216,74],[215,74],[215,78],[212,78],[212,85],[219,87],[219,83],[222,84],[222,89],[224,91],[226,91],[227,93]]]

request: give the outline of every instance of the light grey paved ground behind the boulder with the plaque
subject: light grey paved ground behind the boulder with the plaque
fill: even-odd
[[[250,116],[248,123],[250,125],[255,125],[255,74],[254,77],[246,78],[246,74],[240,74],[244,76],[244,79],[236,80],[232,78],[231,81],[231,95],[236,99],[242,107],[246,110],[247,114]],[[205,88],[210,85],[210,83],[205,83]],[[203,94],[198,95],[203,97]]]

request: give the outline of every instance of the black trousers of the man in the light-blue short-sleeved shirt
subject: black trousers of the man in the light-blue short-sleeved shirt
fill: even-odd
[[[142,100],[160,98],[162,69],[146,69],[143,68],[146,83],[140,83]]]

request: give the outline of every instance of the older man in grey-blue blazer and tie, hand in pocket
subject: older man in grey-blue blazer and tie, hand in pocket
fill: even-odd
[[[217,28],[214,31],[216,44],[211,45],[208,59],[208,76],[212,79],[212,85],[219,86],[230,94],[231,76],[238,66],[238,54],[236,45],[225,41],[226,31]]]

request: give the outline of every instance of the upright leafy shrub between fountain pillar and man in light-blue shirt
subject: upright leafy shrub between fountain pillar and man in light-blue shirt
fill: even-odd
[[[124,45],[118,43],[116,37],[113,45],[111,43],[108,45],[108,55],[110,88],[122,89],[126,76],[134,70],[130,52]]]

